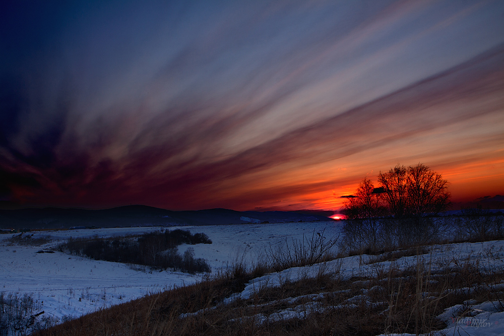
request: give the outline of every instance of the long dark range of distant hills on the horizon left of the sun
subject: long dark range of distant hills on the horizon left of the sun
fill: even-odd
[[[72,227],[130,227],[219,225],[260,222],[331,220],[315,214],[285,211],[234,211],[209,209],[170,211],[145,205],[103,210],[27,208],[0,210],[0,229],[61,229]]]

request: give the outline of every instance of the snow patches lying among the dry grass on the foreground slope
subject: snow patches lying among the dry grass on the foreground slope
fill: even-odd
[[[375,274],[378,269],[388,269],[389,267],[404,268],[415,265],[418,260],[431,262],[432,271],[440,270],[448,265],[463,265],[464,263],[472,263],[478,265],[482,270],[491,270],[495,267],[502,269],[504,267],[504,241],[491,241],[483,243],[459,243],[433,246],[429,254],[410,257],[402,257],[395,261],[383,261],[372,264],[367,264],[372,260],[372,256],[351,256],[346,258],[335,259],[327,263],[316,264],[305,267],[292,267],[280,272],[265,274],[261,277],[253,279],[247,284],[245,289],[238,294],[234,294],[224,301],[224,304],[236,299],[249,299],[254,294],[266,287],[275,287],[284,284],[287,281],[294,282],[302,278],[317,276],[321,272],[333,273],[334,276],[339,276],[342,279],[349,279],[353,276],[366,276]],[[504,281],[503,281],[504,282]],[[496,284],[493,289],[498,289],[504,286]],[[469,290],[469,289],[467,289]],[[366,290],[362,290],[364,293]],[[332,293],[322,293],[321,295],[331,295]],[[426,294],[427,295],[427,294]],[[289,298],[291,302],[301,299],[302,297]],[[352,306],[355,302],[359,302],[365,297],[356,295],[339,307]],[[320,296],[313,296],[314,301],[318,301]],[[287,300],[287,301],[289,301]],[[385,303],[371,303],[380,305]],[[468,303],[470,304],[470,303]],[[502,306],[498,302],[485,302],[473,306],[474,316],[456,318],[457,311],[460,307],[452,307],[448,309],[441,319],[448,322],[448,327],[444,330],[435,332],[435,335],[442,336],[444,334],[470,334],[470,335],[504,335],[504,312]],[[500,307],[497,309],[496,307]],[[269,316],[257,314],[249,318],[254,318],[258,323],[266,321],[274,321],[279,319],[290,318],[305,318],[309,312],[313,310],[321,311],[332,307],[322,307],[318,302],[305,303],[290,307]],[[405,334],[407,335],[407,334]]]

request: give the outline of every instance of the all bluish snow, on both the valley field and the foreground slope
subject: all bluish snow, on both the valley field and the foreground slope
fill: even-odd
[[[327,239],[338,237],[343,222],[299,222],[299,223],[250,223],[244,225],[222,225],[203,227],[182,227],[191,233],[203,232],[213,244],[181,245],[183,253],[188,247],[195,249],[195,256],[205,258],[212,272],[244,261],[248,265],[264,258],[268,250],[275,250],[292,239],[311,238],[313,232],[324,233]],[[202,274],[191,275],[173,271],[135,270],[128,265],[90,260],[64,253],[36,253],[48,250],[70,237],[111,237],[164,230],[166,228],[114,228],[96,230],[69,230],[37,232],[33,238],[48,237],[51,241],[42,246],[9,245],[7,239],[12,234],[0,236],[0,291],[5,293],[29,293],[37,300],[45,314],[58,319],[76,317],[102,307],[133,300],[149,293],[170,289],[173,286],[191,284],[202,278]],[[175,228],[169,228],[173,230]],[[30,233],[32,234],[32,233]],[[336,259],[325,264],[307,267],[293,267],[281,272],[265,274],[251,281],[241,292],[228,298],[224,303],[236,298],[246,299],[254,291],[266,286],[278,286],[290,280],[315,276],[322,270],[332,272],[342,278],[355,275],[369,275],[383,267],[407,267],[414,265],[417,256],[402,257],[395,261],[371,263],[372,256],[352,256]],[[460,243],[433,246],[431,252],[420,258],[430,262],[433,269],[447,263],[472,262],[482,269],[504,268],[504,241],[483,243]],[[504,279],[499,286],[504,287]],[[278,311],[270,316],[260,316],[259,320],[278,320],[292,317],[302,318],[309,310],[325,309],[318,301],[326,294],[314,294],[310,305],[300,305]],[[331,295],[331,293],[327,293]],[[291,298],[292,302],[301,298]],[[342,304],[351,304],[342,303]],[[495,303],[474,305],[473,317],[454,318],[458,307],[451,307],[440,316],[448,322],[448,327],[436,334],[504,335],[504,312],[496,309]],[[465,333],[464,333],[465,332]]]

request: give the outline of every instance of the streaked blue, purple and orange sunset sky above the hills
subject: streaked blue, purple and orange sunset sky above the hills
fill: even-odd
[[[424,163],[504,195],[502,1],[7,1],[0,203],[338,210]]]

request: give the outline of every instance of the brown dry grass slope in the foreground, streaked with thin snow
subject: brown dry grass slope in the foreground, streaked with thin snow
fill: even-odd
[[[350,279],[319,273],[224,304],[224,298],[267,271],[239,264],[217,278],[89,314],[39,335],[419,334],[444,328],[436,316],[445,308],[504,302],[502,288],[496,286],[504,270],[484,272],[480,265],[464,262],[434,271],[434,262],[421,250],[417,253],[416,263],[404,269],[392,262],[387,268],[376,263],[368,274]]]

